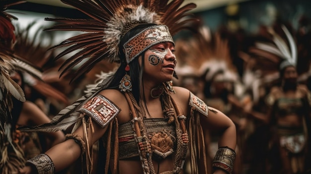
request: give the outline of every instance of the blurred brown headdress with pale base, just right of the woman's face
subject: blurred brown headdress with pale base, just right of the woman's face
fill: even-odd
[[[191,62],[184,64],[191,65],[197,75],[204,76],[205,81],[211,80],[220,70],[224,72],[227,80],[238,79],[236,67],[232,63],[228,40],[221,38],[220,33],[212,34],[206,26],[201,26],[195,37],[187,41],[186,46],[176,43],[176,47],[192,51],[192,55],[185,59]],[[180,52],[183,50],[179,48],[176,54]],[[176,68],[177,73],[179,73],[178,68]]]

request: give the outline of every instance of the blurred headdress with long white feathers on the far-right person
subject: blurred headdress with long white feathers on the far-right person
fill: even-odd
[[[259,99],[259,86],[269,86],[279,78],[280,69],[297,65],[296,41],[285,25],[260,28],[247,54],[240,53],[246,62],[243,73],[245,87],[252,90],[254,101]]]

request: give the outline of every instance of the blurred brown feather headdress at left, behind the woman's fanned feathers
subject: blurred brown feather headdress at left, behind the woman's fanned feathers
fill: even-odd
[[[53,52],[48,51],[53,43],[53,35],[40,32],[42,27],[39,27],[35,30],[35,35],[30,36],[30,31],[35,24],[32,22],[23,29],[16,25],[16,42],[13,46],[16,62],[14,67],[23,73],[25,83],[31,88],[46,98],[68,105],[67,97],[42,79],[44,69],[48,66],[47,63],[54,58]],[[36,42],[38,39],[44,40],[45,44]]]

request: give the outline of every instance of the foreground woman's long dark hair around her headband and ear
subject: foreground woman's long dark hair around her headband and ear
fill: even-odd
[[[121,60],[121,64],[120,64],[119,68],[117,69],[114,77],[112,78],[111,83],[108,86],[108,88],[115,88],[115,89],[117,89],[119,84],[120,84],[121,79],[123,78],[123,76],[126,73],[125,67],[127,65],[127,62],[126,62],[125,54],[123,52],[123,45],[124,45],[124,43],[126,43],[130,38],[132,38],[133,36],[135,36],[136,34],[141,32],[145,28],[150,27],[150,26],[154,26],[154,25],[156,25],[156,24],[152,24],[152,23],[139,24],[138,26],[136,26],[133,29],[131,29],[130,31],[128,31],[121,38],[121,41],[120,41],[120,44],[119,44],[119,58]],[[144,64],[144,53],[142,53],[142,56],[143,56],[143,58],[142,58],[142,65]],[[142,80],[142,74],[143,74],[143,69],[144,68],[140,67],[138,58],[133,59],[129,63],[129,66],[130,66],[129,75],[131,77],[131,83],[132,83],[132,93],[134,95],[134,98],[138,102],[139,99],[140,99],[140,84],[142,82],[141,80]]]

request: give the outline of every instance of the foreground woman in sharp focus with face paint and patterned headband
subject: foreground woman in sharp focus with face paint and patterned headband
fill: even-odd
[[[99,4],[99,1],[83,2],[84,5],[93,7]],[[84,151],[90,172],[92,160],[89,146],[97,140],[103,142],[100,147],[106,150],[105,174],[108,170],[114,174],[180,174],[188,149],[192,152],[192,173],[206,173],[202,128],[221,134],[220,148],[213,163],[214,174],[232,172],[236,141],[233,122],[220,111],[208,108],[189,90],[171,86],[169,82],[174,74],[176,58],[168,26],[145,18],[150,17],[149,9],[151,6],[155,7],[155,4],[151,4],[149,9],[141,4],[133,8],[134,4],[127,4],[128,2],[110,3],[120,3],[120,11],[126,9],[120,12],[122,15],[143,15],[131,18],[132,21],[121,30],[122,34],[117,42],[110,42],[112,36],[104,37],[104,46],[108,49],[102,53],[119,50],[109,55],[112,55],[113,60],[116,60],[114,55],[117,55],[120,59],[119,68],[99,83],[90,97],[73,105],[74,109],[68,107],[68,112],[61,111],[60,117],[53,119],[54,126],[37,127],[39,130],[56,130],[71,124],[72,121],[66,122],[65,119],[73,120],[76,115],[73,112],[79,113],[75,123],[81,125],[75,125],[73,133],[66,135],[67,140],[45,154],[28,160],[20,174],[61,171],[74,163]],[[173,4],[176,2],[181,4],[179,0],[173,1]],[[163,4],[159,8],[161,5]],[[119,12],[115,9],[111,11]],[[105,15],[102,10],[96,14]],[[120,17],[118,14],[115,16]],[[172,25],[176,25],[174,20],[170,26]],[[111,48],[113,44],[116,47]],[[64,119],[64,116],[67,117]],[[104,154],[97,155],[102,158]]]

